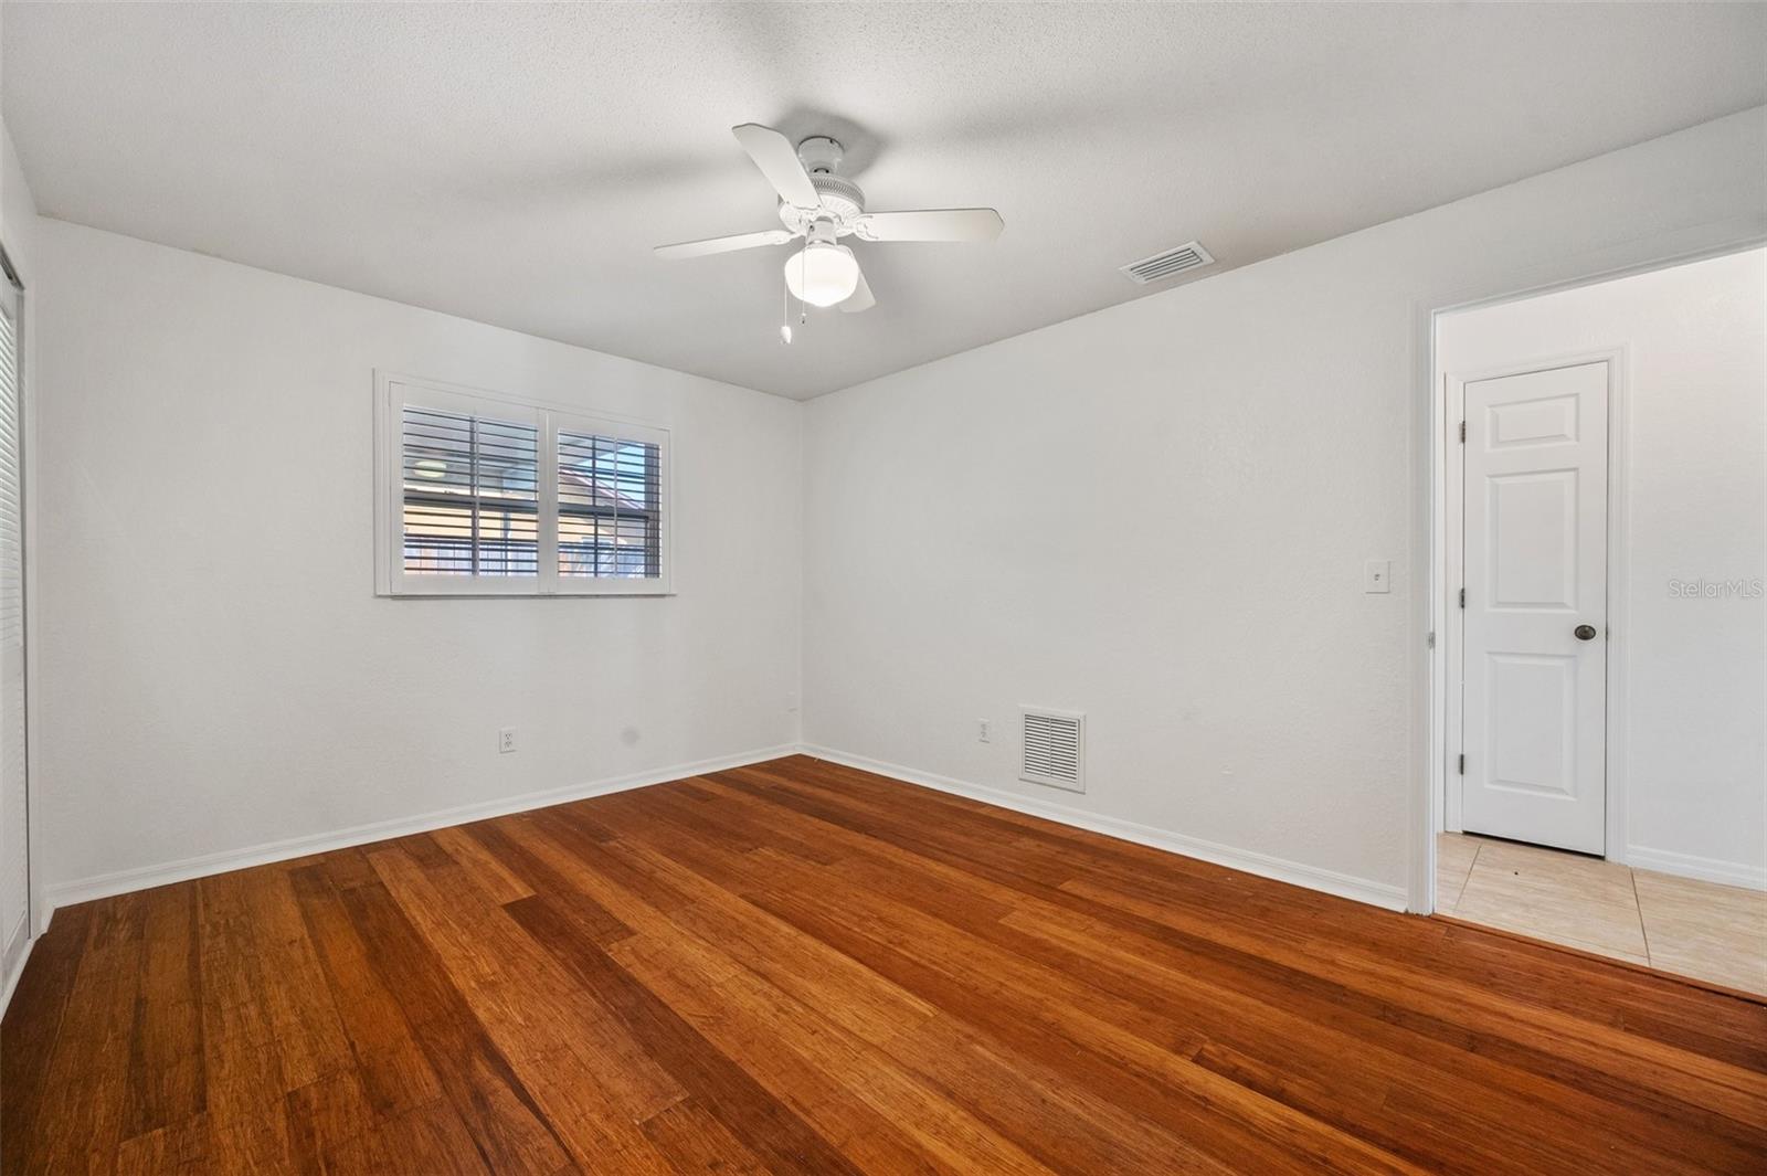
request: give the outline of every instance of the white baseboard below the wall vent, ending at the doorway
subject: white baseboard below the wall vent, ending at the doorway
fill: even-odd
[[[1276,881],[1306,886],[1308,890],[1322,890],[1325,893],[1338,895],[1339,899],[1354,899],[1357,902],[1368,902],[1369,906],[1380,906],[1389,911],[1405,909],[1405,886],[1354,878],[1350,874],[1339,874],[1336,871],[1304,865],[1301,862],[1288,862],[1286,858],[1274,858],[1267,853],[1255,853],[1251,849],[1235,849],[1233,846],[1202,841],[1200,837],[1186,837],[1184,833],[1154,828],[1152,825],[1136,825],[1134,821],[1097,816],[1053,800],[1020,796],[1018,793],[1007,793],[998,788],[952,780],[951,777],[917,772],[894,763],[882,763],[864,756],[850,756],[829,747],[806,743],[799,747],[799,750],[806,756],[815,756],[816,759],[829,759],[830,763],[846,765],[848,768],[859,768],[861,772],[889,775],[898,780],[906,780],[908,784],[935,788],[942,793],[968,796],[970,800],[981,800],[982,803],[998,805],[1014,812],[1025,812],[1028,816],[1041,816],[1060,825],[1073,825],[1074,828],[1104,833],[1106,837],[1133,841],[1138,846],[1164,849],[1166,853],[1177,853],[1186,858],[1202,858],[1203,862],[1214,862],[1216,865],[1226,865],[1228,869],[1258,874],[1260,878],[1274,878]]]

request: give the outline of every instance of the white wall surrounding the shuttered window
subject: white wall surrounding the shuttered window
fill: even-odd
[[[797,740],[795,403],[60,221],[37,244],[51,897]],[[670,426],[679,595],[376,599],[376,367]]]

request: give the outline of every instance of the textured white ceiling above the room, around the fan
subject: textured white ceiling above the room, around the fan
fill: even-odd
[[[1763,5],[35,5],[5,120],[46,215],[815,396],[1767,101]],[[873,208],[781,346],[785,249],[730,136],[834,134]]]

